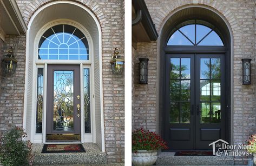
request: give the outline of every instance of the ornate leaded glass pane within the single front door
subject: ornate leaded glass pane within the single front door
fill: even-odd
[[[74,130],[74,71],[54,71],[54,130]]]

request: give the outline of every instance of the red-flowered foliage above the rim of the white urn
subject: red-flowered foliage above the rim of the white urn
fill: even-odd
[[[167,143],[155,132],[137,129],[132,133],[132,151],[168,149]]]

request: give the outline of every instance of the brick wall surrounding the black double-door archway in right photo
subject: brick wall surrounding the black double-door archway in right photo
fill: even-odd
[[[256,4],[253,0],[243,1],[204,1],[204,0],[145,0],[149,13],[160,34],[163,22],[168,18],[170,12],[181,6],[199,4],[209,6],[223,15],[231,25],[233,31],[233,142],[244,143],[248,136],[256,132],[256,80],[255,80],[255,34],[256,34]],[[161,40],[161,36],[157,42]],[[157,58],[156,43],[137,43],[134,62],[134,110],[133,128],[145,127],[153,131],[159,131],[161,125],[159,116],[159,103],[157,93],[159,89],[159,58]],[[137,83],[138,60],[137,57],[149,57],[148,85]],[[251,85],[242,85],[242,58],[252,58]],[[239,163],[239,162],[237,162]]]

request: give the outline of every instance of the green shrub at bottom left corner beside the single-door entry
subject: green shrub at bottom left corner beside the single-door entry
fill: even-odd
[[[32,154],[32,143],[23,141],[26,137],[24,130],[14,127],[4,135],[0,145],[1,164],[6,166],[32,165],[34,154]]]

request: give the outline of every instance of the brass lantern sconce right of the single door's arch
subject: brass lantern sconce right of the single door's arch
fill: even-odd
[[[114,55],[112,56],[112,59],[110,61],[111,69],[113,74],[122,74],[124,69],[124,60],[119,59],[121,56],[119,55],[118,49],[115,48]]]

